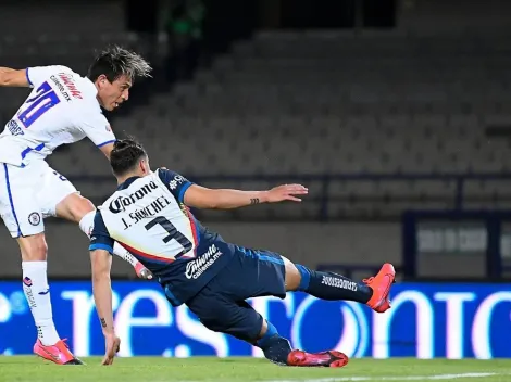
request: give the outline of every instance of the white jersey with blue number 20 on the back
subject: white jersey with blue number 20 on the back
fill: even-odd
[[[65,66],[29,67],[26,77],[33,91],[0,135],[0,163],[24,167],[85,137],[98,147],[115,141],[88,78]]]

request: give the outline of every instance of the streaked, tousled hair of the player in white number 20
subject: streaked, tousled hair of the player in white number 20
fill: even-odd
[[[99,53],[89,67],[87,77],[95,81],[104,74],[110,82],[122,75],[135,80],[136,77],[151,77],[152,67],[137,53],[117,46],[109,47]]]

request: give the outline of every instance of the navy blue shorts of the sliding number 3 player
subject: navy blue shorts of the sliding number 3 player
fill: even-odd
[[[278,254],[236,246],[232,262],[186,305],[208,329],[253,343],[263,318],[246,300],[269,295],[285,298],[285,277]]]

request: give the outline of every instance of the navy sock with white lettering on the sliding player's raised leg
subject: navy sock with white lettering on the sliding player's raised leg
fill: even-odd
[[[296,264],[301,275],[299,291],[307,292],[321,300],[349,300],[365,304],[373,295],[373,290],[361,282],[334,272],[323,272]]]

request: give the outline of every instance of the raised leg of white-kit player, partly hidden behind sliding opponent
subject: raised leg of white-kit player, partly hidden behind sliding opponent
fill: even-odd
[[[60,201],[55,207],[55,215],[78,224],[80,230],[90,238],[96,207],[92,202],[82,196],[78,192],[71,193]],[[152,279],[151,272],[119,243],[114,243],[113,252],[122,259],[128,262],[135,268],[135,272],[138,277],[142,279]]]

